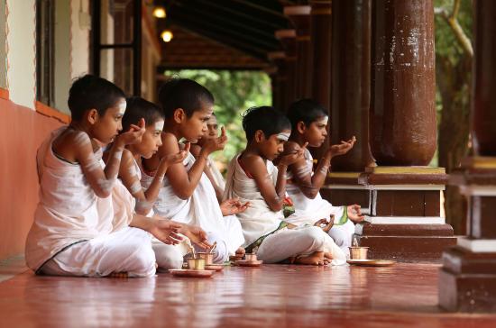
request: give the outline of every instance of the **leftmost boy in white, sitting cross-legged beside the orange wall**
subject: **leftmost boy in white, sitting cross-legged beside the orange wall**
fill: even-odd
[[[134,214],[129,225],[116,228],[111,196],[124,146],[141,141],[144,123],[118,135],[124,92],[100,77],[78,78],[68,104],[71,123],[52,132],[37,153],[40,202],[26,240],[27,264],[49,275],[152,276],[151,233],[174,244],[182,227]],[[101,145],[110,142],[105,165]]]

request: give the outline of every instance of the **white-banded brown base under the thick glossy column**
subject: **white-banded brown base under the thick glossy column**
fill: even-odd
[[[356,226],[371,259],[438,261],[456,244],[453,228],[441,217],[442,168],[367,168],[358,182],[370,190],[370,212]]]

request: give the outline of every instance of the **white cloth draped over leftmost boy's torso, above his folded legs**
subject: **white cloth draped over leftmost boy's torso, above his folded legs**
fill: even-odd
[[[28,266],[35,270],[65,247],[113,230],[112,197],[96,197],[81,167],[58,158],[52,150],[52,142],[65,129],[51,132],[36,156],[40,201],[25,251]],[[96,156],[101,157],[101,152]],[[105,166],[101,159],[100,163]]]

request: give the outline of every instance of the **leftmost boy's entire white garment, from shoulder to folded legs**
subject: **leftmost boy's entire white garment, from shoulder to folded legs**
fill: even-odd
[[[113,197],[96,197],[81,167],[53,153],[52,141],[64,129],[52,132],[37,153],[40,201],[26,239],[28,266],[49,274],[102,276],[126,271],[134,276],[152,275],[150,234],[124,228],[129,214],[114,211]],[[119,214],[118,226],[123,227],[117,231],[115,213]]]

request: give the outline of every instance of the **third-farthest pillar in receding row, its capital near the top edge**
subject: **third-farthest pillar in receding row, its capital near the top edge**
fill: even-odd
[[[284,14],[294,24],[296,31],[297,73],[296,98],[312,96],[312,42],[310,37],[310,6],[289,5]]]

